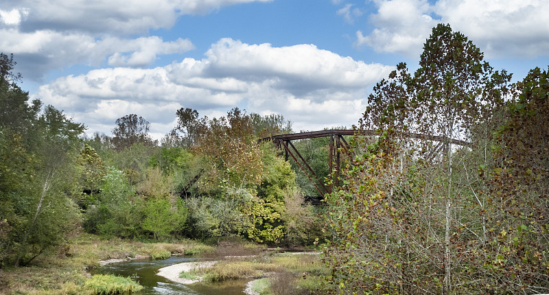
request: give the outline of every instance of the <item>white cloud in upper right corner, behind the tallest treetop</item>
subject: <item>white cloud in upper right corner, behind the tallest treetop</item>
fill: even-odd
[[[355,45],[417,57],[431,28],[449,23],[489,57],[533,58],[549,51],[546,0],[373,0],[375,28],[356,32]],[[433,19],[434,17],[434,19]]]

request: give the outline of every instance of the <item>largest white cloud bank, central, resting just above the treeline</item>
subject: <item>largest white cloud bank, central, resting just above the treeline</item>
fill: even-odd
[[[91,132],[108,132],[104,122],[136,113],[151,121],[152,132],[165,134],[169,128],[161,128],[182,106],[203,115],[233,106],[262,115],[281,113],[300,130],[355,123],[365,107],[366,89],[392,69],[314,45],[272,47],[224,38],[202,60],[69,75],[41,86],[39,96],[87,123]]]

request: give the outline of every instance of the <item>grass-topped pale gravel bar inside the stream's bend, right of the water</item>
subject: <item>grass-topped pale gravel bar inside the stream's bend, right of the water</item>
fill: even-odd
[[[316,294],[329,274],[320,252],[264,251],[259,255],[219,257],[219,261],[178,263],[159,275],[183,284],[248,280],[244,293]]]

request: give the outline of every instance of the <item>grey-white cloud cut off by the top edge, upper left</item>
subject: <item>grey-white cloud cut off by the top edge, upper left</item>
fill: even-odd
[[[3,9],[25,10],[23,32],[38,29],[80,31],[92,34],[137,34],[148,29],[170,28],[178,16],[207,14],[223,6],[272,0],[3,0]]]

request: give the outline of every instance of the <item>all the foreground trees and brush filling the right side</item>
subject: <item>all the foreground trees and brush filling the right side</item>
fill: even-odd
[[[360,123],[378,136],[356,138],[365,153],[329,197],[333,292],[548,287],[546,231],[537,225],[546,220],[545,168],[530,178],[533,167],[547,165],[545,74],[532,71],[510,93],[510,75],[482,58],[465,36],[439,25],[414,75],[399,64],[375,86]]]

